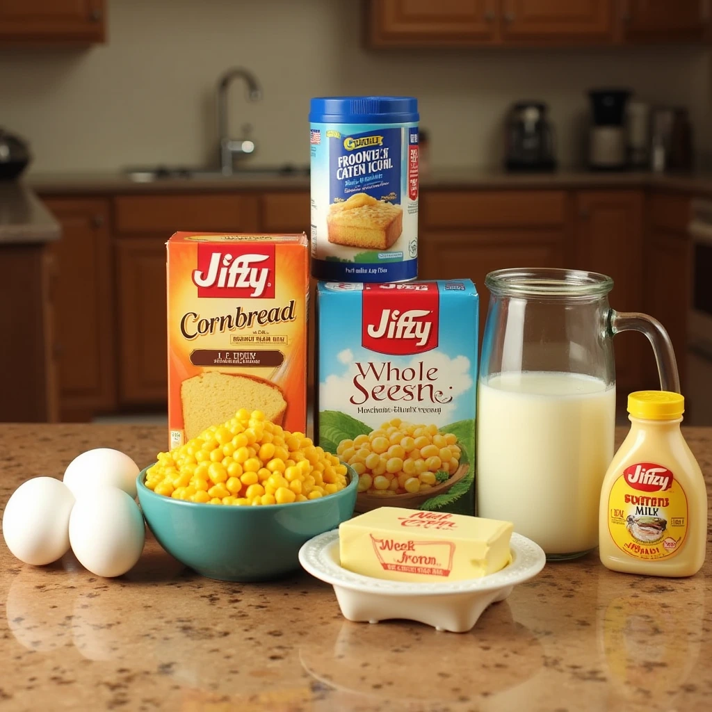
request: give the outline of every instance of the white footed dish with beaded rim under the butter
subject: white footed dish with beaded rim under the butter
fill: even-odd
[[[546,555],[538,544],[513,534],[512,562],[503,570],[462,581],[412,583],[355,574],[340,565],[339,532],[310,539],[299,551],[301,565],[334,587],[341,612],[350,621],[418,621],[454,633],[471,630],[489,604],[503,601],[518,583],[535,577]]]

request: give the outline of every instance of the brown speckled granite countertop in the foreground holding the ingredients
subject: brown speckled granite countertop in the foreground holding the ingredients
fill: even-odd
[[[617,435],[622,438],[624,431]],[[712,488],[712,429],[686,429]],[[160,426],[0,425],[0,507],[85,449],[144,465]],[[256,545],[259,545],[256,542]],[[268,553],[266,553],[268,554]],[[658,712],[712,708],[712,563],[622,575],[548,564],[467,634],[347,622],[306,574],[263,585],[186,570],[149,538],[124,577],[0,543],[0,708],[241,712]]]

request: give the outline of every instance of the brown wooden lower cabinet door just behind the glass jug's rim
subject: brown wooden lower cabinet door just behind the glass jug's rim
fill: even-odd
[[[419,278],[468,277],[476,284],[482,343],[488,308],[487,274],[507,267],[563,267],[563,245],[562,230],[429,232],[420,240]]]

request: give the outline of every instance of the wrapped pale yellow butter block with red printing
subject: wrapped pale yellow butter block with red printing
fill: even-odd
[[[459,581],[511,562],[511,522],[379,507],[339,526],[341,565],[392,581]]]

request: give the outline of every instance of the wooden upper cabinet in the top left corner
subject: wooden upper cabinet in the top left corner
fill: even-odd
[[[103,42],[105,0],[0,0],[0,45]]]

